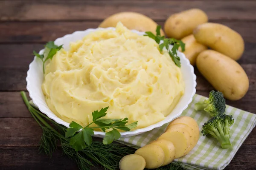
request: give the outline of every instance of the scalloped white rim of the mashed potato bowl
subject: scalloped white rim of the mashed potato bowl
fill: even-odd
[[[73,35],[75,35],[75,34],[80,34],[80,33],[84,33],[84,34],[85,34],[86,32],[92,32],[92,31],[97,31],[97,30],[108,30],[108,29],[115,29],[115,28],[114,28],[114,27],[108,27],[108,28],[89,28],[89,29],[86,29],[86,30],[84,30],[84,31],[75,31],[75,32],[73,32],[72,34],[66,34],[66,35],[64,35],[63,37],[57,38],[54,42],[56,42],[56,41],[61,41],[62,39],[65,39],[65,38],[67,38],[67,37],[73,36]],[[137,31],[137,30],[131,30],[131,31],[132,31],[132,32],[135,32],[135,33],[137,33],[137,34],[139,34],[139,35],[145,34],[145,32],[140,32],[140,31]],[[70,41],[70,42],[71,42],[71,41]],[[44,49],[40,50],[40,51],[39,51],[39,54],[42,54],[43,51],[44,51]],[[190,99],[189,99],[189,101],[186,103],[186,105],[183,106],[182,109],[180,109],[180,112],[179,112],[179,113],[176,113],[176,114],[175,114],[175,116],[173,116],[173,117],[168,117],[168,115],[167,115],[165,119],[163,119],[163,120],[161,120],[160,122],[157,122],[157,123],[155,123],[155,124],[153,124],[153,125],[149,125],[149,126],[147,126],[147,127],[143,127],[143,128],[136,129],[136,130],[132,130],[132,131],[120,132],[121,137],[125,137],[125,136],[135,136],[135,135],[137,135],[137,134],[150,131],[150,130],[156,128],[156,127],[161,127],[161,126],[163,126],[164,124],[169,123],[169,122],[171,122],[173,119],[176,119],[177,117],[179,117],[179,116],[181,115],[181,113],[182,113],[182,112],[188,107],[188,105],[192,102],[192,98],[193,98],[193,96],[195,95],[195,92],[196,92],[196,88],[195,88],[195,87],[196,87],[196,85],[197,85],[197,83],[196,83],[196,75],[195,75],[195,73],[194,73],[194,67],[190,64],[189,59],[187,59],[187,58],[185,57],[185,55],[184,55],[182,52],[177,51],[177,54],[178,54],[178,56],[180,57],[180,59],[183,60],[183,63],[182,63],[182,64],[184,65],[184,63],[185,63],[185,65],[189,68],[189,73],[192,74],[192,80],[193,80],[193,87],[192,87],[192,88],[193,88],[193,90],[192,90],[192,93],[190,94]],[[36,96],[33,94],[33,92],[32,92],[32,87],[31,87],[31,84],[30,84],[30,79],[31,79],[31,74],[30,74],[30,73],[31,73],[31,70],[32,70],[32,64],[33,64],[34,62],[36,62],[35,60],[36,60],[36,57],[34,57],[33,61],[29,64],[29,70],[27,71],[27,77],[26,77],[26,82],[27,82],[26,89],[27,89],[27,91],[29,92],[29,97],[32,99],[33,103],[38,107],[38,109],[39,109],[42,113],[46,114],[50,119],[54,120],[54,121],[57,122],[58,124],[64,125],[65,127],[69,127],[69,124],[70,124],[70,123],[65,122],[64,120],[62,120],[61,118],[59,118],[58,116],[56,116],[52,111],[50,111],[50,113],[49,113],[48,111],[45,111],[45,110],[41,107],[41,105],[39,105],[38,100],[36,99]],[[184,94],[183,94],[183,95],[184,95]],[[179,102],[180,102],[180,100],[179,100]],[[179,102],[177,102],[177,104],[178,104]],[[177,104],[176,104],[176,106],[177,106]],[[175,106],[175,107],[176,107],[176,106]],[[48,107],[48,105],[47,105],[47,107]],[[175,109],[175,108],[174,108],[174,109]],[[173,110],[174,110],[174,109],[173,109]],[[172,110],[172,111],[173,111],[173,110]],[[169,114],[171,114],[172,111],[171,111]],[[103,136],[105,136],[105,132],[102,132],[102,131],[95,131],[95,130],[94,130],[94,136],[103,137]]]

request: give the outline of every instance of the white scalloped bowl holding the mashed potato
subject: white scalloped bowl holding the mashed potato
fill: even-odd
[[[99,30],[99,29],[115,29],[115,28],[96,28],[96,29],[87,29],[85,31],[76,31],[73,34],[67,34],[64,37],[58,38],[55,40],[56,45],[62,45],[64,49],[69,48],[70,42],[74,42],[77,40],[81,40],[85,35]],[[143,35],[144,32],[132,30],[133,32]],[[44,50],[41,50],[39,54],[43,54]],[[188,107],[189,103],[192,102],[192,97],[195,94],[195,86],[196,86],[196,76],[194,74],[194,68],[190,65],[189,60],[186,59],[183,53],[177,52],[180,57],[181,62],[181,72],[183,75],[183,79],[185,81],[185,93],[180,98],[180,101],[177,103],[173,111],[166,116],[166,119],[157,122],[154,125],[150,125],[148,127],[144,127],[142,129],[137,129],[133,131],[121,132],[121,137],[128,137],[138,135],[143,132],[147,132],[156,127],[160,127],[166,123],[171,122],[173,119],[180,116],[180,114]],[[34,57],[34,60],[29,64],[29,71],[27,72],[26,82],[27,82],[27,90],[29,91],[29,96],[33,100],[34,104],[38,106],[39,110],[42,113],[45,113],[49,118],[53,119],[58,124],[69,127],[70,122],[65,122],[56,116],[52,111],[48,108],[44,94],[41,89],[41,85],[43,83],[44,74],[42,68],[42,62],[40,59]],[[94,131],[94,136],[104,137],[105,132]]]

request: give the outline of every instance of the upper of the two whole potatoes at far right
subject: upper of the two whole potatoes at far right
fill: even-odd
[[[195,39],[232,59],[238,60],[244,52],[241,35],[218,23],[204,23],[193,31]]]

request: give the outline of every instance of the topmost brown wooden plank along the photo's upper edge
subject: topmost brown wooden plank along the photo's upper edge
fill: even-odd
[[[0,1],[0,20],[103,20],[121,11],[140,12],[154,20],[166,20],[173,13],[201,8],[211,20],[256,20],[256,3],[244,0],[216,1]],[[159,12],[161,11],[161,12]]]

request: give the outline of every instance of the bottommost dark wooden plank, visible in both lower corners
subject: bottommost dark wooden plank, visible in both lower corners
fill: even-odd
[[[256,169],[256,146],[242,146],[225,170]],[[37,147],[0,147],[0,167],[4,170],[78,170],[77,165],[61,156],[61,150],[55,151],[51,158],[38,154]],[[92,168],[92,170],[103,170]]]

